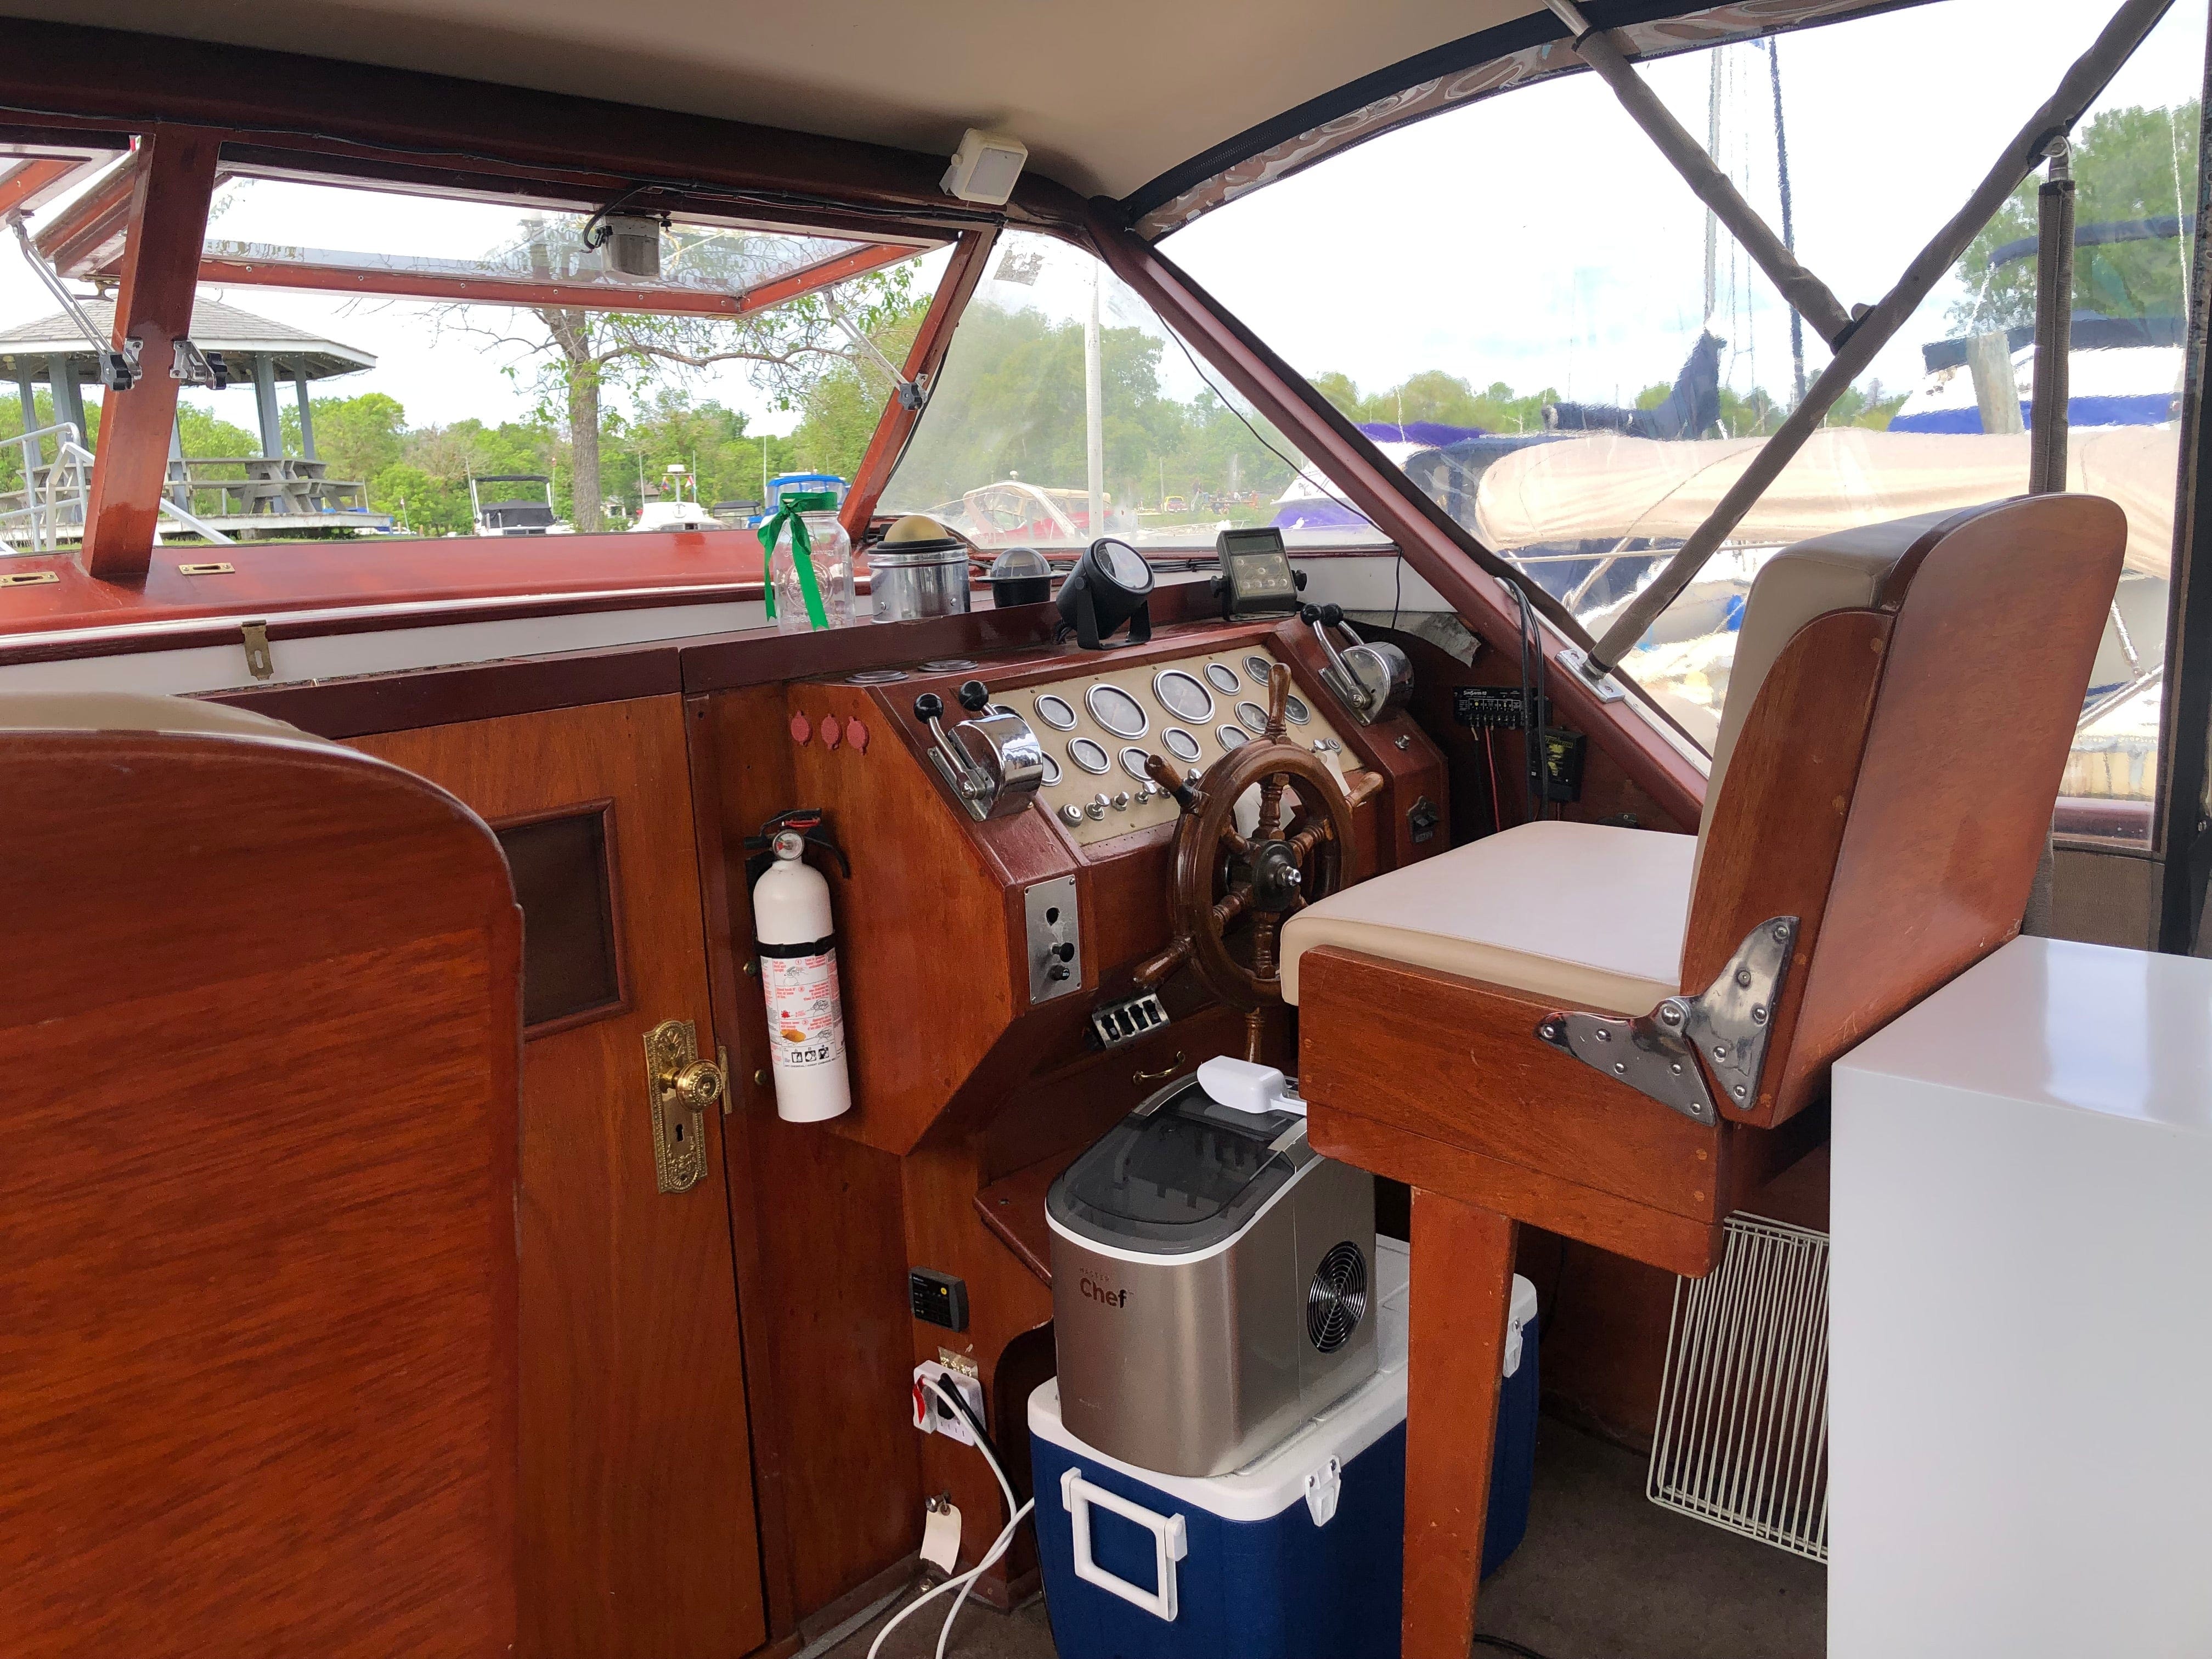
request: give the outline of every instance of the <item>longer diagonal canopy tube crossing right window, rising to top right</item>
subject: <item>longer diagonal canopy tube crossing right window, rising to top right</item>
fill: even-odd
[[[2170,9],[2172,0],[2126,0],[2112,13],[2112,22],[2075,60],[2057,91],[2028,117],[2028,124],[2020,128],[2013,142],[2004,146],[1989,177],[1966,197],[1966,206],[1905,268],[1898,285],[1889,290],[1880,305],[1865,312],[1851,325],[1849,334],[1843,336],[1834,361],[1820,369],[1820,378],[1805,392],[1805,400],[1790,411],[1790,418],[1752,456],[1743,476],[1721,498],[1721,504],[1712,509],[1712,515],[1697,526],[1668,566],[1652,577],[1650,586],[1630,599],[1613,626],[1606,628],[1604,639],[1582,661],[1582,672],[1593,684],[1604,679],[1628,648],[1644,637],[1644,630],[1652,626],[1659,613],[1674,604],[1674,597],[1690,586],[1690,580],[1712,557],[1712,551],[1728,540],[1736,524],[1743,522],[1743,515],[1767,493],[1767,487],[1781,478],[1783,467],[1805,447],[1805,440],[1820,429],[1827,411],[1836,407],[1836,398],[1851,387],[1867,365],[1874,363],[1876,354],[1920,310],[1920,301],[1936,290],[1936,283],[1942,281],[1953,261],[1982,234],[1989,217],[2042,166],[2051,139],[2066,137],[2073,131],[2073,124],[2097,102],[2112,75],[2119,73],[2119,66],[2135,55],[2135,49],[2143,44],[2143,38]]]

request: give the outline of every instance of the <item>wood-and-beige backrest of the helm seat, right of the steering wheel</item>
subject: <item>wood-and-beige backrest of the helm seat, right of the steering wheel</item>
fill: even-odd
[[[2020,931],[2126,515],[2037,495],[1778,553],[1745,606],[1683,942],[1688,991],[1796,916],[1761,1099]]]

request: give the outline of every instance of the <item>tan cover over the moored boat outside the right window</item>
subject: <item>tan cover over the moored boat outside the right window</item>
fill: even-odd
[[[1686,540],[1721,502],[1765,438],[1657,442],[1597,434],[1520,449],[1482,476],[1475,533],[1495,549]],[[2174,546],[2181,436],[2166,427],[2088,427],[2066,447],[2066,487],[2119,502],[2126,568],[2166,577]],[[1949,436],[1829,427],[1750,511],[1732,542],[1787,546],[1891,518],[2022,495],[2026,434]]]

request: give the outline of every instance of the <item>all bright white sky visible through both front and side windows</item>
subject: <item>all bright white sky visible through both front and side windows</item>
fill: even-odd
[[[1798,257],[1849,303],[1880,299],[1958,208],[1997,146],[2057,84],[2110,15],[2106,0],[1938,0],[1891,15],[1783,35],[1778,44]],[[2174,106],[2199,91],[2205,0],[2177,0],[2104,104]],[[1703,135],[1712,55],[1641,69]],[[1721,161],[1778,223],[1774,106],[1765,49],[1721,53]],[[2188,144],[2190,135],[2179,139]],[[314,248],[471,257],[511,243],[504,208],[285,184],[230,186],[210,237]],[[1705,215],[1593,75],[1506,93],[1336,155],[1170,237],[1166,252],[1298,369],[1383,389],[1447,369],[1484,387],[1546,385],[1610,403],[1670,380],[1703,312]],[[1042,239],[1022,239],[1042,243]],[[1011,239],[1009,239],[1011,243]],[[1787,312],[1723,232],[1714,330],[1739,392],[1787,400]],[[987,299],[1073,319],[1088,307],[1088,257],[1048,248],[1033,283],[991,281]],[[922,268],[933,285],[942,254]],[[1006,270],[993,257],[993,276]],[[529,372],[513,349],[440,336],[409,301],[232,288],[226,303],[376,354],[376,369],[325,387],[389,392],[411,425],[526,416]],[[1920,345],[1955,330],[1947,281],[1874,365],[1891,392],[1920,376]],[[53,310],[0,248],[0,325]],[[1117,283],[1108,325],[1157,323]],[[1807,336],[1807,372],[1825,363]],[[1164,389],[1197,376],[1164,352]],[[692,383],[790,431],[741,367]],[[190,394],[252,427],[252,394]]]

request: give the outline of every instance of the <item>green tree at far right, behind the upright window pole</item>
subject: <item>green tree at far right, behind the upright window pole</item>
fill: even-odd
[[[2199,102],[2174,108],[2128,106],[2097,115],[2073,144],[2075,223],[2159,219],[2197,201]],[[1958,261],[1966,299],[1951,323],[1966,334],[2035,323],[2035,252],[1993,265],[2006,243],[2035,239],[2035,192],[2042,175],[1973,239]],[[2075,248],[2075,312],[2101,316],[2181,316],[2190,243],[2181,237]]]

